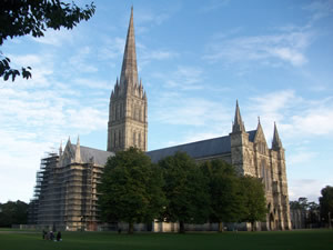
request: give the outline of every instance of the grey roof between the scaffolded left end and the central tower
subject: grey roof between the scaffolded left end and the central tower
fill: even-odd
[[[77,146],[72,144],[73,151],[75,152]],[[81,151],[81,160],[83,162],[91,162],[91,159],[93,158],[93,162],[98,166],[104,166],[107,163],[107,160],[110,156],[114,157],[114,152],[108,152],[104,150],[88,148],[84,146],[80,146]]]

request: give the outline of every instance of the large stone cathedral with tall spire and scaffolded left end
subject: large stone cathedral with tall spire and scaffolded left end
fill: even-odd
[[[239,174],[260,178],[265,188],[268,214],[266,221],[258,223],[258,229],[291,229],[284,149],[276,124],[269,148],[260,120],[255,130],[246,131],[236,102],[228,136],[147,151],[147,92],[138,77],[132,9],[120,79],[117,79],[110,97],[107,151],[80,146],[78,138],[77,143],[69,139],[63,150],[60,147],[59,152],[43,158],[37,173],[30,212],[33,222],[63,230],[99,230],[97,186],[107,159],[118,151],[137,147],[145,151],[153,162],[183,151],[198,162],[222,159],[234,166]],[[152,223],[145,230],[173,231],[176,228],[176,224],[168,222]],[[206,224],[188,227],[212,230],[212,226]],[[240,229],[248,230],[246,224],[242,223]],[[144,230],[144,227],[141,229]]]

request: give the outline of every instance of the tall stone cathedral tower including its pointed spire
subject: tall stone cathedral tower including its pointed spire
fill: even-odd
[[[138,78],[133,8],[131,10],[120,80],[110,97],[108,151],[137,147],[147,151],[147,94]]]

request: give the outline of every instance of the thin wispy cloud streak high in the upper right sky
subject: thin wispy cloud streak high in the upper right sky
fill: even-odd
[[[309,31],[222,38],[206,46],[206,54],[203,58],[210,62],[248,63],[259,61],[263,64],[287,62],[300,67],[307,62],[305,49],[311,41],[312,33]]]

